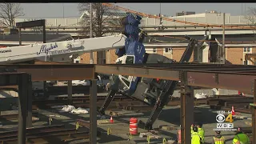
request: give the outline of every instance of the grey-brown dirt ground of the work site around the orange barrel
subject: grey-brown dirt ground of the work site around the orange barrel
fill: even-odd
[[[197,110],[201,111],[201,116],[198,116],[198,119],[202,121],[203,128],[206,131],[205,134],[205,141],[206,143],[210,143],[212,141],[212,138],[214,136],[214,128],[216,128],[216,111],[210,110],[209,106],[197,106]],[[74,121],[77,118],[82,118],[84,120],[89,120],[89,114],[66,114],[66,113],[58,113],[57,110],[39,110],[38,117],[40,118],[40,122],[34,122],[34,126],[42,126],[42,125],[49,125],[48,116],[50,114],[59,115],[59,118],[53,118],[52,125],[56,124],[62,124],[65,123],[67,127],[74,127]],[[114,124],[101,124],[98,125],[99,128],[102,129],[103,133],[101,138],[98,138],[98,143],[106,143],[106,144],[123,144],[124,142],[129,143],[147,143],[146,138],[139,138],[138,136],[134,136],[132,139],[129,139],[129,136],[127,135],[129,133],[129,120],[131,117],[136,117],[138,120],[142,120],[143,122],[146,122],[150,111],[149,112],[143,112],[143,113],[135,113],[132,111],[126,111],[122,110],[123,114],[122,116],[113,117],[114,118]],[[107,111],[106,111],[106,114]],[[242,114],[243,116],[247,116],[248,118],[251,118],[250,114]],[[180,125],[180,115],[179,115],[179,108],[178,106],[166,106],[164,110],[162,110],[162,113],[160,114],[158,120],[154,122],[154,128],[157,128],[159,125],[168,125],[168,126],[174,126],[177,129]],[[234,119],[234,126],[246,126],[245,122],[251,122],[251,120],[239,120]],[[8,124],[8,125],[7,125]],[[2,122],[2,125],[0,127],[0,131],[5,130],[17,130],[17,122]],[[106,130],[110,128],[111,134],[107,135]],[[138,132],[146,132],[146,130],[142,130],[138,128]],[[166,138],[166,140],[174,139],[176,138],[177,130],[160,130],[159,136],[162,138]],[[234,138],[234,132],[226,131],[222,132],[222,134],[225,136],[227,142],[226,144],[231,144],[232,139]],[[150,140],[150,143],[162,143],[162,138],[158,140]],[[80,140],[70,143],[87,143],[88,140]]]

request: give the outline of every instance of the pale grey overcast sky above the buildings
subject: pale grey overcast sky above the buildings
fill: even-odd
[[[63,18],[63,15],[65,18],[75,18],[81,15],[78,12],[78,3],[22,3],[21,5],[26,14],[23,18]],[[160,12],[160,3],[116,3],[116,5],[147,14]],[[204,13],[206,10],[242,15],[248,7],[256,7],[256,3],[162,3],[161,11],[168,16],[182,11]]]

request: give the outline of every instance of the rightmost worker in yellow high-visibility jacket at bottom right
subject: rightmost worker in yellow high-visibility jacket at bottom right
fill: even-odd
[[[238,130],[234,135],[233,144],[250,144],[250,139],[242,132],[241,127],[238,127]]]

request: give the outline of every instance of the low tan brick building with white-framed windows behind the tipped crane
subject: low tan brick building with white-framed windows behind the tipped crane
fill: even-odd
[[[202,39],[203,36],[191,36],[192,38],[196,38],[198,40]],[[149,38],[146,38],[145,41],[148,41]],[[218,42],[222,42],[221,36],[216,38]],[[145,42],[144,46],[146,47],[146,52],[150,54],[162,54],[167,58],[172,58],[176,61],[179,61],[182,57],[182,54],[186,50],[186,46],[188,46],[187,41],[180,41],[176,38],[165,38],[158,37],[158,40],[165,41],[166,43],[159,42]],[[226,38],[226,62],[230,64],[245,64],[245,55],[246,54],[254,54],[256,53],[254,44],[254,35],[239,35],[237,38]],[[206,42],[206,48],[203,50],[203,62],[217,62],[216,54],[218,52],[218,46],[222,46],[218,44],[218,42]],[[106,59],[104,62],[107,64],[113,64],[117,59],[117,55],[115,54],[115,50],[107,50],[106,51]],[[193,61],[193,56],[190,58],[190,62]],[[90,54],[83,54],[80,57],[81,63],[89,63],[90,62]],[[97,62],[97,54],[94,53],[94,62]],[[247,62],[251,65],[251,62]]]

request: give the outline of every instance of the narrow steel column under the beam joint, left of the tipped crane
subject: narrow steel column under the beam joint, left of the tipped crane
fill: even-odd
[[[97,143],[97,80],[90,82],[90,144]]]

